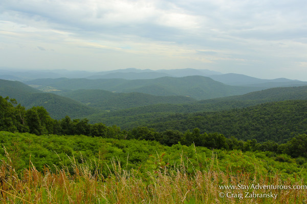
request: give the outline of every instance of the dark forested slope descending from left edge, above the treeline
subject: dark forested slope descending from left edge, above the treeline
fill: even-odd
[[[87,107],[73,99],[53,93],[44,93],[17,81],[0,80],[0,96],[15,98],[26,108],[43,106],[54,119],[61,119],[66,115],[79,118],[97,113],[94,108]]]

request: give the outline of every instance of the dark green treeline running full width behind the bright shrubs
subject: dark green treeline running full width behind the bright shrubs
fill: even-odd
[[[129,131],[119,126],[106,126],[103,123],[90,124],[89,120],[71,119],[69,116],[61,120],[52,119],[43,107],[33,107],[26,110],[17,105],[15,99],[0,96],[0,131],[29,132],[35,135],[85,135],[92,137],[114,139],[137,139],[158,141],[167,146],[178,144],[203,146],[210,149],[238,149],[243,151],[272,151],[277,154],[287,154],[292,157],[307,158],[307,135],[300,134],[287,143],[278,144],[274,141],[257,143],[256,139],[238,140],[235,137],[225,137],[219,133],[201,133],[199,128],[180,132],[165,130],[157,132],[155,129],[139,126]]]

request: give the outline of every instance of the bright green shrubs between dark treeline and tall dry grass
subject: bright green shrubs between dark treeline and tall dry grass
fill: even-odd
[[[104,176],[115,172],[113,162],[121,164],[127,170],[138,169],[138,173],[146,177],[146,172],[158,173],[166,168],[176,172],[184,168],[189,174],[195,170],[223,171],[229,174],[250,173],[267,175],[282,172],[282,175],[295,177],[307,176],[304,158],[292,159],[285,154],[272,152],[242,152],[240,150],[210,150],[206,147],[182,145],[164,146],[156,141],[117,140],[82,135],[36,136],[29,133],[0,132],[0,141],[6,148],[17,172],[27,168],[31,154],[31,162],[40,171],[49,166],[68,166],[72,163],[94,166]],[[213,160],[212,160],[213,158]],[[0,149],[0,159],[5,158],[5,150]],[[214,161],[214,167],[211,164]],[[54,166],[55,165],[55,166]],[[73,173],[73,172],[72,172]]]

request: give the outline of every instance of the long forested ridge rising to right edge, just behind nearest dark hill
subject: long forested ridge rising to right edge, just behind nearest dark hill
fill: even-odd
[[[174,113],[231,110],[235,108],[246,108],[267,102],[296,99],[307,100],[307,86],[271,88],[244,95],[200,100],[190,104],[156,104],[135,107],[109,113],[96,113],[87,116],[87,118],[93,123],[103,120],[108,125],[116,123],[126,128],[134,123],[139,123],[139,118],[142,118],[144,121],[150,121],[153,116],[165,117],[168,114]]]

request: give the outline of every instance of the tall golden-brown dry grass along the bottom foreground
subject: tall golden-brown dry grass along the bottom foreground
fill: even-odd
[[[33,164],[20,174],[15,172],[7,154],[0,166],[0,203],[306,203],[306,190],[222,190],[220,185],[303,185],[305,178],[282,181],[278,173],[273,176],[241,172],[233,174],[218,168],[212,155],[207,170],[187,171],[182,160],[179,166],[164,166],[159,170],[127,171],[120,162],[112,160],[109,175],[99,171],[95,161],[82,164],[71,158],[72,165],[56,167],[52,172],[45,167],[38,171]],[[72,168],[72,169],[71,169]],[[255,169],[257,167],[255,166]],[[277,198],[220,197],[220,193],[233,195],[245,192],[276,193]],[[229,194],[229,195],[230,195]]]

